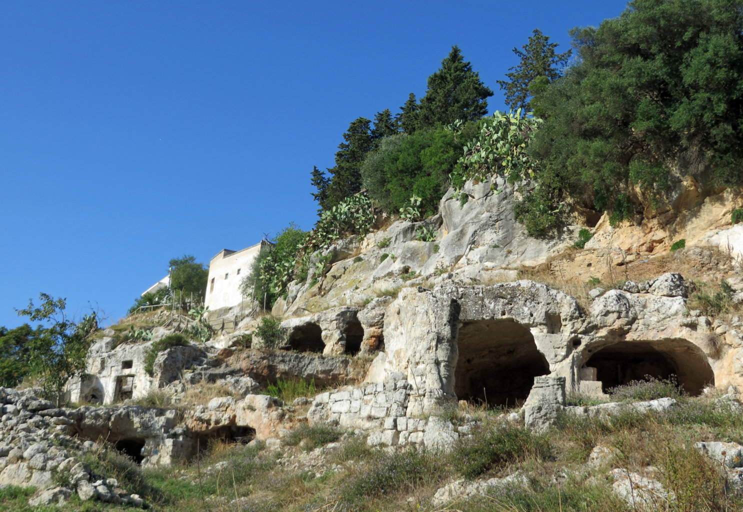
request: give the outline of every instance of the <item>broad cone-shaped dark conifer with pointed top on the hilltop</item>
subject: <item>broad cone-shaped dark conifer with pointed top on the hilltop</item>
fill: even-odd
[[[441,68],[428,77],[428,89],[418,106],[418,127],[449,124],[455,120],[477,120],[487,113],[487,98],[493,91],[480,81],[480,74],[464,62],[454,45]]]

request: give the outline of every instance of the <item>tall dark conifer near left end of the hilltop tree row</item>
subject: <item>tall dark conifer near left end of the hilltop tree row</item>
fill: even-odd
[[[370,132],[371,121],[359,117],[351,121],[348,132],[343,134],[344,142],[340,143],[335,154],[335,166],[328,169],[332,176],[325,189],[328,195],[324,209],[334,207],[361,190],[361,164],[366,153],[374,149]]]

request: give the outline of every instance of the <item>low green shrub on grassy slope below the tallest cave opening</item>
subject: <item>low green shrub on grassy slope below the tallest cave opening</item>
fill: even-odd
[[[551,457],[547,438],[518,427],[481,428],[461,439],[451,453],[452,465],[461,476],[474,479],[489,470],[499,470],[527,456]]]

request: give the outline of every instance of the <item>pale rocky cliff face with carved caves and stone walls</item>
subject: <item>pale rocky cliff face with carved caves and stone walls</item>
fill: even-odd
[[[236,319],[230,334],[160,352],[150,375],[144,360],[152,342],[114,346],[104,337],[91,349],[90,375],[69,386],[71,398],[90,406],[65,411],[30,395],[0,394],[0,482],[33,480],[48,493],[45,502],[77,492],[141,505],[85,467],[71,485],[55,487],[50,472],[79,460],[52,450],[53,436],[81,453],[106,440],[157,466],[191,458],[210,438],[275,447],[302,424],[364,432],[371,445],[448,449],[471,435],[475,422],[454,424],[441,412],[464,402],[519,407],[508,421],[544,430],[565,412],[614,411],[611,404],[570,407],[566,395],[606,399],[606,389],[645,375],[675,376],[689,395],[726,389],[737,404],[743,322],[695,308],[690,284],[701,285],[673,270],[726,276],[743,289],[736,279],[743,228],[729,220],[741,204],[738,192],[702,191],[689,181],[637,224],[611,227],[594,218],[593,238],[577,250],[584,226],[550,241],[530,239],[513,218],[519,188],[499,182],[496,194],[490,185],[467,184],[464,205],[448,193],[438,216],[395,221],[329,247],[333,265],[322,285],[294,282],[273,308],[285,334],[279,349],[266,349],[258,337],[245,348],[256,320]],[[418,240],[421,226],[434,228],[435,240]],[[687,248],[669,256],[671,242],[684,236]],[[588,279],[603,284],[588,293]],[[158,329],[155,340],[169,332]],[[329,389],[296,404],[259,394],[279,378]],[[192,401],[195,386],[212,386],[213,398]],[[153,392],[171,405],[127,405]],[[26,456],[32,444],[47,454],[44,464],[36,453]],[[452,485],[442,496],[469,492]]]

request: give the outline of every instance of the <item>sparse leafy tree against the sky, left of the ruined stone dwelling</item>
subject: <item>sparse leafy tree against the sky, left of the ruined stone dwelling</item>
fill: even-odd
[[[40,377],[46,395],[56,398],[59,404],[65,383],[85,372],[91,334],[97,331],[98,318],[92,312],[76,323],[65,315],[65,299],[39,294],[39,300],[42,301],[39,307],[29,300],[27,308],[16,311],[46,325],[39,326],[28,338],[29,363]]]

